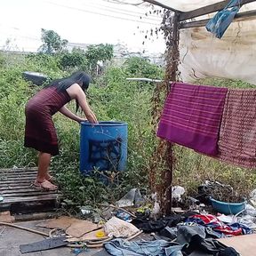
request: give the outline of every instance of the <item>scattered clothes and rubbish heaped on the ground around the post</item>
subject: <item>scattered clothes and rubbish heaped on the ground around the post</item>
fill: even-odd
[[[213,184],[205,182],[202,186],[198,188],[198,196],[187,196],[189,209],[173,208],[170,216],[159,215],[156,195],[153,196],[155,202],[148,204],[140,190],[133,188],[115,205],[102,205],[100,211],[90,206],[81,207],[86,220],[62,216],[38,225],[51,228],[50,237],[45,239],[50,244],[54,241],[56,247],[72,247],[76,254],[83,252],[84,248],[102,248],[95,255],[240,255],[236,246],[226,244],[224,238],[254,236],[256,190],[252,191],[250,202],[244,201],[242,212],[225,215],[208,211],[212,190],[207,186]],[[220,183],[218,186],[232,189]],[[185,194],[182,187],[172,188],[172,200],[180,205]],[[23,244],[20,252],[35,251],[31,251],[31,244]]]

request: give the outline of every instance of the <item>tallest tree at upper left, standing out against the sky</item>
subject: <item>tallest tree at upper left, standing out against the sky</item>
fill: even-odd
[[[68,40],[61,39],[61,37],[53,30],[46,30],[44,28],[41,29],[41,40],[44,44],[40,46],[38,52],[44,53],[53,53],[53,52],[61,52],[66,48],[68,44]]]

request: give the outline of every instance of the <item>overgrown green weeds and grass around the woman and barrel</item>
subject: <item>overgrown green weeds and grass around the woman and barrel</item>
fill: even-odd
[[[67,52],[55,55],[42,53],[9,61],[0,55],[0,167],[36,166],[36,152],[23,147],[24,108],[27,100],[40,88],[22,79],[23,71],[40,71],[52,78],[67,76],[76,68],[90,71],[86,52],[74,50],[75,58],[69,61]],[[62,60],[61,60],[62,56]],[[63,56],[66,56],[65,58]],[[70,56],[69,56],[70,57]],[[71,58],[72,59],[72,58]],[[63,64],[64,63],[64,64]],[[66,63],[66,64],[65,64]],[[69,63],[67,65],[67,63]],[[70,64],[72,63],[72,64]],[[79,125],[56,114],[55,125],[60,138],[60,156],[52,159],[52,171],[69,203],[97,204],[119,199],[130,188],[148,188],[149,160],[156,146],[151,132],[151,97],[154,85],[127,81],[127,77],[145,76],[162,79],[164,72],[140,58],[127,60],[123,66],[109,66],[101,76],[95,76],[88,99],[99,120],[118,120],[128,123],[128,170],[118,175],[118,182],[108,187],[93,177],[83,177],[79,164]],[[201,84],[249,87],[240,81],[208,79]],[[75,109],[73,104],[68,108]],[[237,191],[247,193],[255,185],[255,170],[245,170],[220,163],[193,150],[175,146],[174,184],[195,192],[205,179],[219,180],[232,185]],[[111,173],[109,173],[111,175]],[[1,177],[0,177],[1,179]]]

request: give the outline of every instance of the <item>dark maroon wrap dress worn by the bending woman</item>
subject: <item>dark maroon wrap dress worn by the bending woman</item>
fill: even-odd
[[[68,92],[58,92],[55,87],[47,87],[36,93],[26,105],[26,126],[24,146],[37,151],[59,154],[58,138],[52,122],[52,115],[60,110],[70,97]]]

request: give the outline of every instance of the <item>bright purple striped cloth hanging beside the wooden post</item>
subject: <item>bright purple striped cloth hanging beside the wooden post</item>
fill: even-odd
[[[173,83],[157,136],[216,156],[227,88]]]

